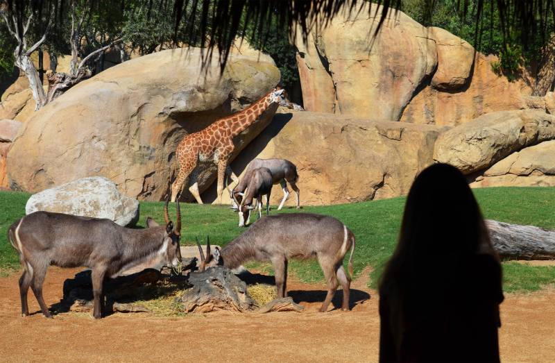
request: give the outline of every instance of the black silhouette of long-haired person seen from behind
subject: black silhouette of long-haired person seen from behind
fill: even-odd
[[[380,362],[499,362],[502,270],[465,177],[414,180],[379,282]]]

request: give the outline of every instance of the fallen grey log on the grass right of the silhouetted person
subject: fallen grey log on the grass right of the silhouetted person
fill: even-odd
[[[493,248],[501,258],[555,260],[555,230],[486,220]]]

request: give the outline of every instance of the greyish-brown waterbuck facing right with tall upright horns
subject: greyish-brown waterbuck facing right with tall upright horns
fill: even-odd
[[[93,316],[99,319],[105,277],[153,258],[173,266],[181,261],[179,203],[176,227],[169,220],[168,201],[164,206],[164,220],[166,225],[159,226],[148,217],[148,228],[139,230],[121,227],[110,219],[34,212],[13,223],[8,229],[8,240],[19,253],[23,267],[19,278],[22,316],[29,314],[27,292],[31,286],[42,314],[52,317],[42,297],[47,267],[85,266],[92,270]]]

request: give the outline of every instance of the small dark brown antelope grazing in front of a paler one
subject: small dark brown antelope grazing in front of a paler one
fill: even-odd
[[[253,200],[255,199],[258,203],[258,219],[262,218],[262,196],[266,196],[266,215],[270,214],[270,194],[273,185],[270,169],[259,168],[251,170],[246,179],[248,179],[248,184],[244,189],[244,193],[242,193],[241,201],[238,201],[235,194],[230,191],[227,182],[225,185],[234,201],[234,205],[231,208],[239,214],[239,227],[248,225],[250,211],[255,209],[253,207]]]

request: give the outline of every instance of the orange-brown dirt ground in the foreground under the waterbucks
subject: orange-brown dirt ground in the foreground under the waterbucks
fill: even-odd
[[[46,303],[58,303],[62,285],[78,270],[51,267],[44,283]],[[29,292],[32,316],[19,315],[19,273],[0,278],[2,362],[376,362],[379,342],[377,294],[353,282],[352,312],[316,312],[323,285],[290,282],[305,312],[213,313],[181,318],[89,314],[45,319]],[[305,292],[308,290],[308,292]],[[339,296],[337,296],[339,295]],[[341,293],[334,303],[339,306]],[[507,295],[501,307],[499,344],[503,362],[555,362],[555,289]]]

